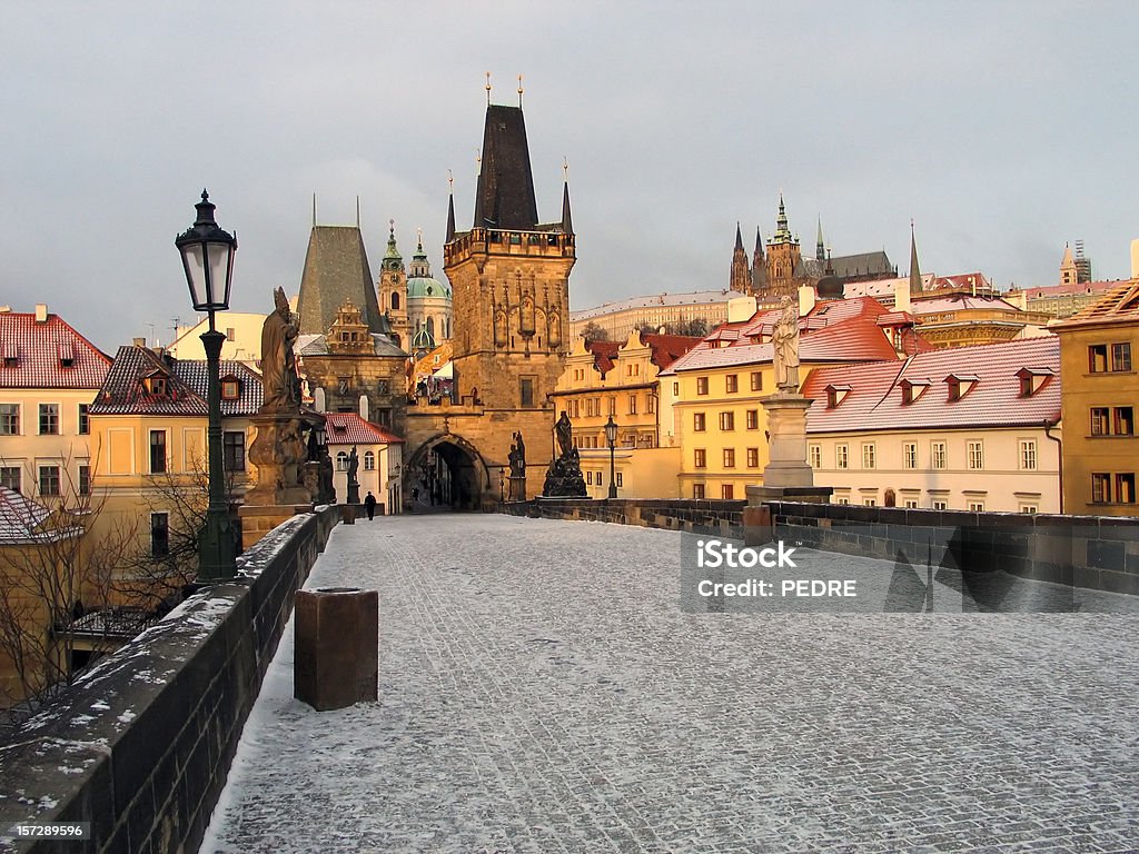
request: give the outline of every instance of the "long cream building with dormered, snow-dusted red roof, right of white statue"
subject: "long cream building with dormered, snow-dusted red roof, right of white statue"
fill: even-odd
[[[831,501],[1058,512],[1056,336],[821,368],[808,462]]]

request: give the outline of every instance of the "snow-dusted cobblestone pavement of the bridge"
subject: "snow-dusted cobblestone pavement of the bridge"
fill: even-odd
[[[835,573],[887,561],[810,555]],[[286,633],[203,851],[1139,851],[1136,614],[686,614],[680,535],[339,526],[380,699]]]

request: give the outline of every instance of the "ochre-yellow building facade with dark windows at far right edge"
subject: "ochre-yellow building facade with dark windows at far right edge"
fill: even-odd
[[[1052,329],[1064,376],[1064,512],[1137,516],[1139,279]]]

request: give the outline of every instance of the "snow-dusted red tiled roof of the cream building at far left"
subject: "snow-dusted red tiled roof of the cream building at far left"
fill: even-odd
[[[32,313],[0,312],[0,388],[98,388],[110,369],[110,359],[58,314],[36,322]]]

